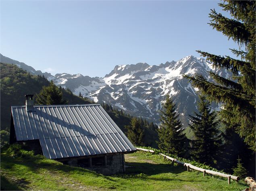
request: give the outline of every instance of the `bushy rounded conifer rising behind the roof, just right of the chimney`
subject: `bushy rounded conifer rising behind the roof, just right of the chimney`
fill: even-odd
[[[62,100],[62,91],[54,85],[53,81],[50,81],[48,86],[44,86],[35,97],[36,103],[40,105],[58,105],[65,103],[65,101]]]

